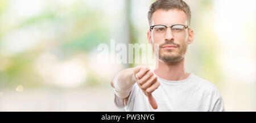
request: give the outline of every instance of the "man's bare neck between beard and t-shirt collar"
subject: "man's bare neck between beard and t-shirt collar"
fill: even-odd
[[[160,60],[157,60],[155,68],[155,74],[158,77],[166,80],[183,80],[189,77],[189,73],[185,71],[184,67],[184,58],[175,63],[167,63]]]

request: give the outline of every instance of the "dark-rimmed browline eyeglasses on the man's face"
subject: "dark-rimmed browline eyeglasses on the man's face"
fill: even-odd
[[[188,28],[188,26],[184,26],[182,24],[175,24],[170,27],[171,27],[172,35],[175,37],[185,36],[185,29]],[[167,28],[168,27],[164,25],[155,25],[155,26],[151,26],[150,30],[152,31],[153,36],[158,38],[166,35]]]

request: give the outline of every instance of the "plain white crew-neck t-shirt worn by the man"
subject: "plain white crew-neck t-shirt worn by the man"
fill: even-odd
[[[188,78],[178,81],[166,80],[158,77],[160,86],[152,92],[158,104],[158,109],[153,109],[148,98],[135,83],[127,105],[123,99],[115,95],[114,103],[117,108],[135,112],[222,112],[225,111],[224,102],[218,91],[208,80],[190,74]]]

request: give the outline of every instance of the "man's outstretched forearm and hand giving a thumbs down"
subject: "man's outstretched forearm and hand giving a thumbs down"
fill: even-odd
[[[160,83],[154,72],[147,66],[137,66],[120,71],[112,80],[111,86],[114,88],[115,95],[125,100],[126,105],[135,83],[138,83],[141,90],[148,97],[152,108],[158,108],[151,93],[160,86]]]

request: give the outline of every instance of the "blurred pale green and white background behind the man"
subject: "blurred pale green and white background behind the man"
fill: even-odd
[[[123,111],[110,81],[137,64],[97,63],[97,46],[147,44],[152,2],[0,0],[0,111]],[[185,2],[187,71],[218,87],[226,111],[256,111],[255,1]]]

